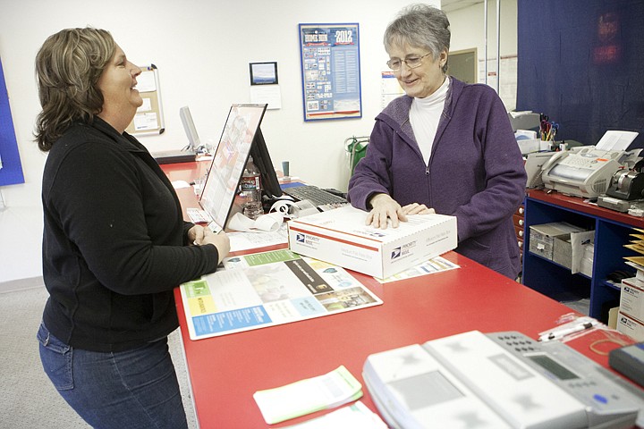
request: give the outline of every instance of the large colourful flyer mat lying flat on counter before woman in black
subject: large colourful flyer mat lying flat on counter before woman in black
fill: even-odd
[[[191,340],[382,304],[343,268],[288,249],[228,257],[224,266],[181,285]]]

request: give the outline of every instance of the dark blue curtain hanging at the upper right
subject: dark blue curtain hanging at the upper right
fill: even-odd
[[[644,147],[644,1],[518,0],[517,110],[547,114],[557,139],[597,144],[640,132]]]

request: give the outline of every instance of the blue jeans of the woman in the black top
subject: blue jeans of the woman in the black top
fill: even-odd
[[[40,360],[64,400],[96,428],[187,428],[167,338],[104,353],[38,330]]]

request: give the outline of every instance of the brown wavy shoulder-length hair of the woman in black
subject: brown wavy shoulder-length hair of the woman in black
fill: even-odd
[[[36,55],[36,80],[42,111],[34,135],[47,152],[73,122],[92,122],[103,108],[97,86],[116,50],[105,29],[63,29],[47,38]]]

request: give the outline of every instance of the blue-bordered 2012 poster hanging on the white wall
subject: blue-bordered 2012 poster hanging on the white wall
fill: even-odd
[[[360,118],[358,24],[300,24],[304,120]]]

